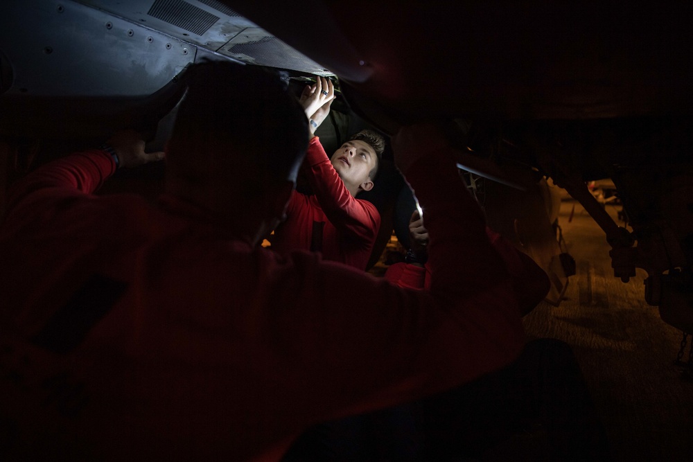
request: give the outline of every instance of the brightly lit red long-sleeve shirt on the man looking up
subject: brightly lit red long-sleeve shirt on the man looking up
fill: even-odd
[[[284,255],[320,251],[325,260],[366,269],[380,228],[378,210],[349,193],[317,136],[308,143],[304,165],[314,195],[294,191],[272,249]]]

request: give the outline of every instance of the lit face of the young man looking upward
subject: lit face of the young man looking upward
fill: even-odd
[[[378,158],[376,151],[365,141],[347,141],[332,154],[330,161],[344,185],[352,192],[359,187],[363,190],[373,187],[369,175],[377,165]]]

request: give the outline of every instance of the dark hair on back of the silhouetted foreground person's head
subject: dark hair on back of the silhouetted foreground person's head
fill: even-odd
[[[277,73],[205,61],[191,66],[184,82],[166,156],[171,175],[201,186],[228,177],[249,192],[261,181],[295,181],[308,145],[307,121]]]

